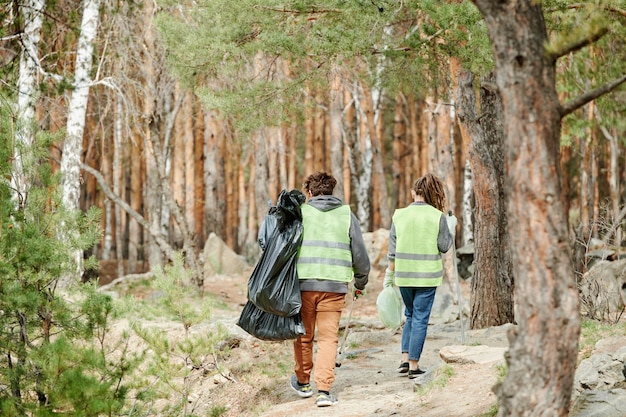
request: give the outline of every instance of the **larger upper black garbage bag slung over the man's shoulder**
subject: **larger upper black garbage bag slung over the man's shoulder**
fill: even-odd
[[[302,307],[296,255],[302,243],[303,202],[302,193],[281,191],[263,222],[259,243],[264,251],[248,280],[248,300],[278,316],[291,317]]]

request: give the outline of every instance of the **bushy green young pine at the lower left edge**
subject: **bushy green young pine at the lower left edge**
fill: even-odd
[[[0,414],[111,415],[123,407],[125,379],[137,364],[125,351],[115,360],[105,353],[112,299],[88,283],[57,289],[69,254],[97,241],[98,211],[63,207],[47,161],[57,139],[50,135],[21,149],[30,188],[25,200],[13,198],[12,120],[0,106]],[[61,224],[70,241],[58,239]]]

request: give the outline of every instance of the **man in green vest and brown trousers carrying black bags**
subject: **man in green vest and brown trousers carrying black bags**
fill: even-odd
[[[338,401],[330,390],[335,381],[341,312],[348,284],[354,278],[356,300],[363,294],[370,271],[359,222],[350,206],[332,195],[335,185],[337,180],[326,172],[316,172],[305,180],[309,201],[301,207],[304,232],[297,258],[306,334],[294,341],[296,364],[290,385],[300,397],[313,395],[310,379],[317,329],[314,381],[318,407]]]

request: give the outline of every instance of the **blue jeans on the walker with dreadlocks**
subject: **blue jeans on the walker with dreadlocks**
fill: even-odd
[[[409,360],[419,361],[422,355],[436,290],[437,287],[400,287],[406,316],[401,347],[402,353],[409,353]]]

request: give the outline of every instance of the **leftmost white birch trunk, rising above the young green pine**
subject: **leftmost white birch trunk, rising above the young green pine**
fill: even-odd
[[[31,149],[35,142],[35,97],[37,85],[37,68],[39,41],[43,24],[45,0],[28,0],[21,8],[24,18],[24,32],[21,35],[23,46],[20,55],[20,73],[17,82],[17,129],[15,132],[16,146],[13,154],[13,176],[11,186],[15,190],[14,197],[20,206],[28,193],[28,180],[24,173],[23,151]]]

